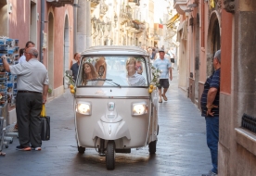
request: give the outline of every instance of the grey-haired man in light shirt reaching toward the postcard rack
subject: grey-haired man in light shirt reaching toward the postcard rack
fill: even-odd
[[[26,62],[9,66],[6,56],[2,56],[4,68],[17,75],[16,113],[18,119],[19,146],[17,150],[41,150],[40,113],[48,93],[48,72],[38,61],[38,51],[26,48]]]

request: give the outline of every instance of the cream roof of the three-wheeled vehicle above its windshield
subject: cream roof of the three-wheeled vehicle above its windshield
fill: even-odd
[[[81,55],[138,55],[148,56],[147,51],[138,46],[102,45],[92,46],[83,51]]]

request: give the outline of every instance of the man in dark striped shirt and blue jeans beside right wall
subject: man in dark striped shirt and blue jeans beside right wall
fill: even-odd
[[[206,121],[207,145],[211,151],[212,169],[202,176],[214,176],[218,174],[218,142],[219,142],[219,99],[221,76],[221,50],[218,50],[213,59],[214,72],[204,83],[201,96],[201,116]]]

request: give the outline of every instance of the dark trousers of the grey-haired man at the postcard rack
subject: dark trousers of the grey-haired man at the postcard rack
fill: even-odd
[[[41,140],[40,113],[43,95],[36,93],[18,93],[16,97],[16,114],[18,119],[19,144],[39,147]]]

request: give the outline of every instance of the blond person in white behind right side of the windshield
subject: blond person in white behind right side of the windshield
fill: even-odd
[[[128,57],[126,61],[126,69],[127,69],[127,81],[131,86],[145,86],[146,80],[136,71],[136,59],[134,57]]]

